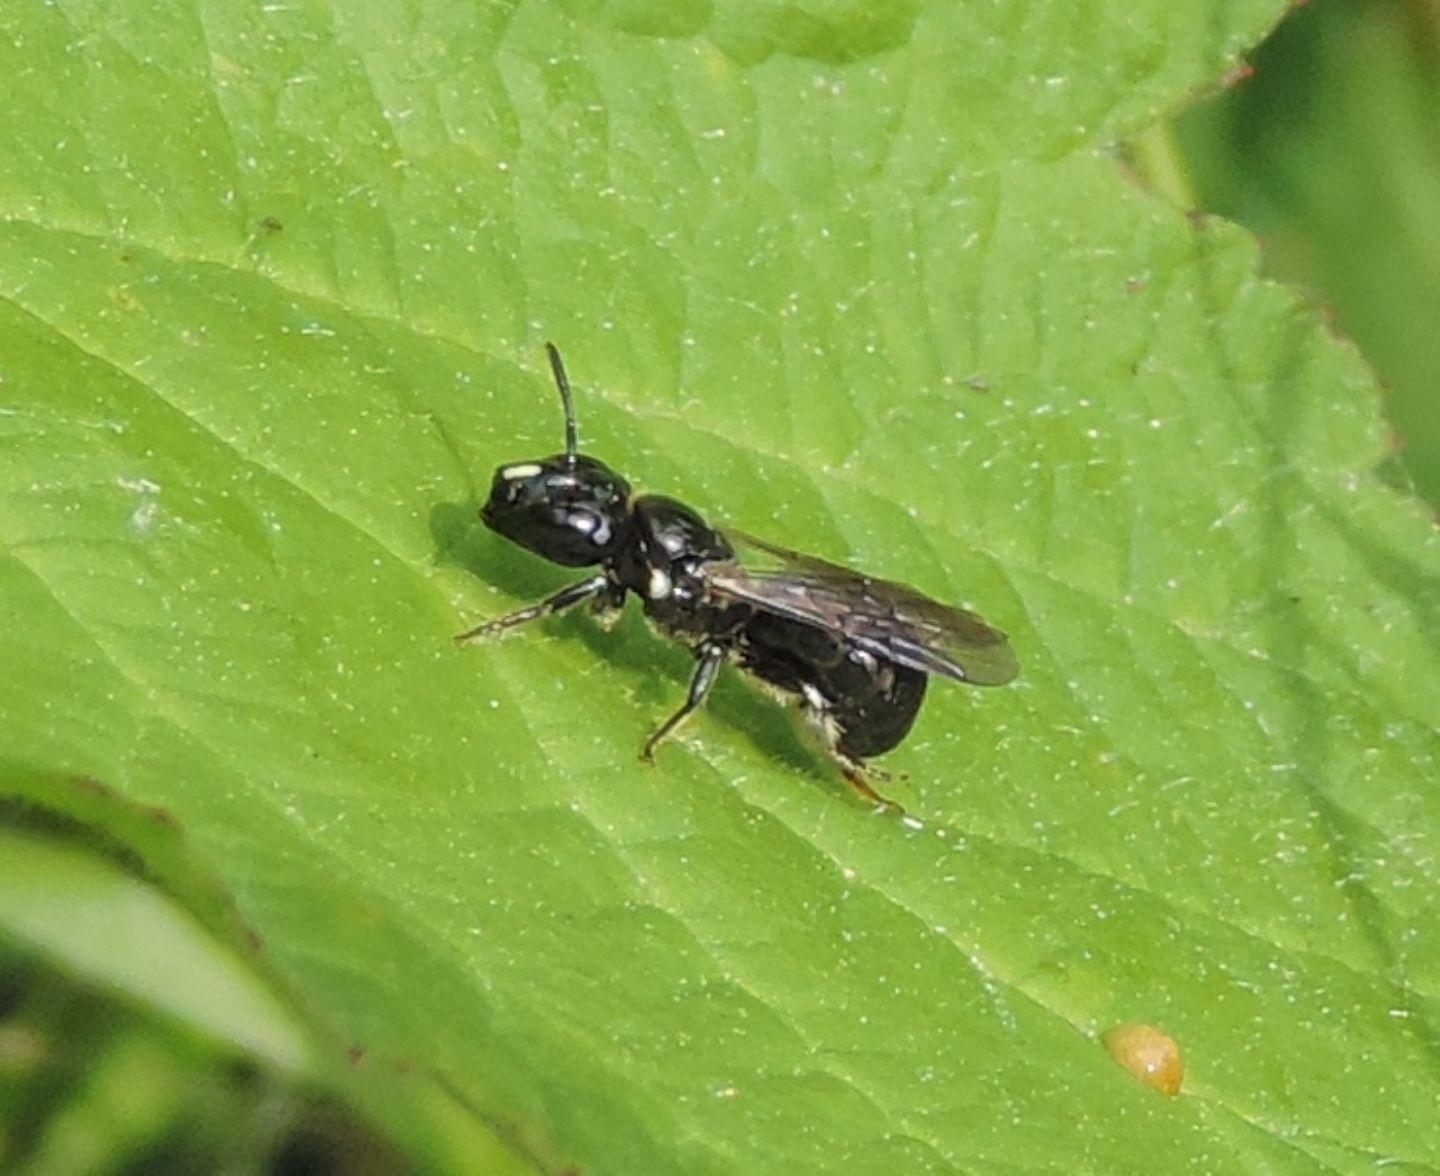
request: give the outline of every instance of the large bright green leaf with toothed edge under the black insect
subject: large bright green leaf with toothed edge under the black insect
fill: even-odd
[[[1440,1167],[1434,533],[1359,357],[1102,150],[1282,9],[9,12],[24,805],[161,806],[331,1075],[546,1169]],[[564,583],[472,514],[544,338],[644,488],[1011,633],[913,820],[734,678],[644,767],[634,616],[452,645]]]

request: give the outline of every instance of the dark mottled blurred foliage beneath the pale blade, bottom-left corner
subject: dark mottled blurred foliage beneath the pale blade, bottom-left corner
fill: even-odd
[[[353,1113],[0,938],[0,1170],[390,1173]]]

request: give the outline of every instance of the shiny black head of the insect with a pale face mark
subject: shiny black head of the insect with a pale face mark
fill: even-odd
[[[615,554],[629,512],[629,484],[580,453],[557,453],[495,471],[480,512],[485,525],[567,567]]]

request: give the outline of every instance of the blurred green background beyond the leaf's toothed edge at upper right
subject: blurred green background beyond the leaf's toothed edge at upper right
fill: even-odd
[[[1250,227],[1378,370],[1400,466],[1440,505],[1440,7],[1315,0],[1182,115],[1195,203]]]

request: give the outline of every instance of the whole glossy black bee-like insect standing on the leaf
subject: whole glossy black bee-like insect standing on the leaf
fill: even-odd
[[[647,760],[733,661],[799,701],[855,792],[899,808],[870,786],[864,760],[904,738],[927,674],[985,687],[1011,681],[1018,665],[1005,635],[904,584],[737,534],[776,564],[742,566],[730,540],[684,502],[632,498],[629,482],[577,451],[570,381],[554,344],[546,351],[564,406],[564,452],[500,466],[480,517],[547,560],[599,571],[456,641],[586,600],[612,613],[634,592],[645,616],[698,662],[684,705],[645,740]]]

